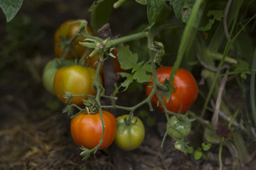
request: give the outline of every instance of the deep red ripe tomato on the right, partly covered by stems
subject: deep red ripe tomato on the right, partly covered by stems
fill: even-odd
[[[172,67],[160,67],[159,69],[156,69],[157,78],[159,79],[159,82],[161,84],[164,84],[165,79],[169,79],[169,76],[171,74]],[[153,77],[153,75],[151,75]],[[168,111],[178,113],[180,110],[181,113],[185,113],[188,111],[188,109],[192,106],[194,101],[196,101],[196,98],[198,96],[198,85],[196,83],[195,78],[191,74],[191,72],[188,72],[186,69],[179,68],[174,75],[174,91],[171,94],[171,98],[169,102],[166,101],[166,96],[162,98],[164,105],[166,106]],[[149,86],[153,86],[153,82],[148,82],[146,84],[146,96],[149,96],[152,89]],[[161,91],[159,91],[159,94]],[[154,106],[157,106],[158,98],[156,95],[154,95],[151,98],[151,103],[154,104]],[[164,111],[163,106],[161,106],[161,103],[159,103],[159,106],[157,106],[161,111]]]

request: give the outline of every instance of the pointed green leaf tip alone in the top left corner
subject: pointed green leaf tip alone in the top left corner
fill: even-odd
[[[6,15],[6,21],[11,21],[21,8],[23,0],[0,0],[0,8]]]

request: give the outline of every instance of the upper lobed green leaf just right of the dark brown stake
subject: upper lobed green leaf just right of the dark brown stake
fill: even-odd
[[[122,69],[133,69],[137,67],[138,56],[129,50],[129,46],[117,45],[118,61]]]

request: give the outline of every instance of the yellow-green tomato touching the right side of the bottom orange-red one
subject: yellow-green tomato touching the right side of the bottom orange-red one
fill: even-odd
[[[132,150],[142,144],[145,137],[145,128],[142,120],[136,116],[129,123],[129,115],[117,118],[117,133],[114,143],[123,150]]]

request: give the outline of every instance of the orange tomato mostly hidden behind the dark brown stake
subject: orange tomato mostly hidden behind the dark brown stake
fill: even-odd
[[[88,53],[87,57],[85,57],[85,64],[87,64],[87,67],[93,67],[95,69],[97,69],[97,62],[99,60],[99,55],[95,54],[92,57],[89,57],[90,52]],[[124,69],[121,69],[120,63],[117,59],[118,56],[118,50],[117,48],[114,48],[113,50],[113,55],[116,57],[114,58],[114,72],[118,73],[118,72],[124,72]],[[100,68],[100,75],[103,76],[103,67]]]

